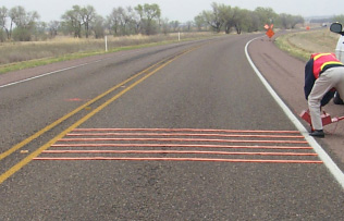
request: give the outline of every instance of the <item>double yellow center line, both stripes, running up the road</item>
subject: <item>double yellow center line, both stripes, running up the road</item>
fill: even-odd
[[[10,170],[5,171],[4,173],[2,173],[0,175],[0,184],[2,184],[7,179],[9,179],[11,175],[13,175],[14,173],[16,173],[19,170],[21,170],[23,167],[25,167],[27,163],[29,163],[34,158],[38,157],[44,150],[48,149],[51,145],[53,145],[54,143],[57,143],[59,139],[61,139],[62,137],[64,137],[67,133],[70,133],[71,131],[73,131],[74,128],[76,128],[77,126],[79,126],[82,123],[84,123],[85,121],[87,121],[88,119],[90,119],[91,116],[94,116],[96,113],[98,113],[99,111],[101,111],[103,108],[106,108],[107,106],[109,106],[111,102],[113,102],[114,100],[116,100],[118,98],[120,98],[122,95],[124,95],[125,93],[130,91],[131,89],[133,89],[135,86],[137,86],[139,83],[144,82],[145,79],[147,79],[149,76],[151,76],[152,74],[157,73],[158,71],[160,71],[161,69],[163,69],[164,66],[167,66],[168,64],[170,64],[171,62],[173,62],[174,60],[179,59],[180,57],[182,57],[185,53],[188,53],[193,50],[196,50],[198,47],[185,50],[181,53],[179,53],[175,57],[172,58],[168,58],[164,59],[151,66],[149,66],[148,69],[135,74],[134,76],[130,77],[128,79],[120,83],[119,85],[110,88],[109,90],[107,90],[106,93],[99,95],[98,97],[94,98],[93,100],[86,102],[85,105],[78,107],[77,109],[75,109],[74,111],[67,113],[66,115],[62,116],[61,119],[57,120],[56,122],[53,122],[52,124],[46,126],[45,128],[42,128],[41,131],[37,132],[36,134],[32,135],[30,137],[24,139],[23,142],[21,142],[20,144],[13,146],[11,149],[9,149],[8,151],[3,152],[0,155],[0,161],[7,157],[9,157],[10,155],[12,155],[13,152],[15,152],[16,150],[21,149],[22,147],[24,147],[25,145],[27,145],[28,143],[30,143],[32,140],[34,140],[35,138],[38,138],[39,136],[41,136],[42,134],[45,134],[46,132],[50,131],[51,128],[58,126],[59,124],[61,124],[62,122],[64,122],[65,120],[67,120],[69,118],[71,118],[72,115],[76,114],[77,112],[79,112],[81,110],[85,109],[86,107],[93,105],[94,102],[100,100],[101,98],[103,98],[105,96],[109,95],[110,93],[114,91],[115,89],[120,88],[121,86],[130,83],[131,81],[134,81],[135,78],[139,77],[140,75],[144,75],[145,73],[147,73],[144,77],[139,78],[138,81],[134,82],[132,85],[130,85],[128,87],[126,87],[125,89],[123,89],[122,91],[120,91],[119,94],[116,94],[114,97],[110,98],[109,100],[107,100],[106,102],[103,102],[102,105],[100,105],[98,108],[96,108],[95,110],[93,110],[91,112],[89,112],[87,115],[85,115],[84,118],[79,119],[77,122],[75,122],[73,125],[71,125],[70,127],[67,127],[66,130],[64,130],[63,132],[61,132],[58,136],[53,137],[52,139],[50,139],[47,144],[45,144],[44,146],[39,147],[38,149],[36,149],[34,152],[32,152],[30,155],[28,155],[26,158],[24,158],[22,161],[20,161],[19,163],[16,163],[15,165],[13,165]]]

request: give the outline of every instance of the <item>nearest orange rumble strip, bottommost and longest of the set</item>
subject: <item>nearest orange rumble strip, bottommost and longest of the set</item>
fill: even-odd
[[[124,161],[201,161],[201,162],[258,162],[258,163],[322,163],[318,160],[248,160],[210,158],[34,158],[34,160],[124,160]]]

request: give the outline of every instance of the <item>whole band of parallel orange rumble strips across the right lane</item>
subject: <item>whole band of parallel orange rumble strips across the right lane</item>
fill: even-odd
[[[293,151],[312,149],[297,131],[74,128],[50,147],[54,149],[42,151],[45,156],[34,160],[322,163],[315,152]],[[230,156],[251,157],[235,159]],[[269,156],[279,158],[263,159]]]

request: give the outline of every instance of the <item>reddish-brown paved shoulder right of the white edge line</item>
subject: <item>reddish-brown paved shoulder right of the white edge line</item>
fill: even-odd
[[[254,40],[248,47],[248,52],[257,69],[296,116],[307,109],[304,97],[304,61],[281,51],[274,45],[274,40],[270,40],[268,37]],[[324,110],[332,116],[344,113],[343,106],[333,105],[332,101],[325,106]],[[309,128],[307,124],[304,125]],[[343,170],[344,124],[334,123],[327,125],[324,130],[327,136],[324,139],[319,139],[318,143]]]

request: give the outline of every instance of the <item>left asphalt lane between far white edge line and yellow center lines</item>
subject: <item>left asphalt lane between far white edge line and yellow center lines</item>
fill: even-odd
[[[196,45],[199,44],[201,42]],[[114,57],[107,56],[73,65],[72,69],[62,67],[60,71],[49,72],[52,73],[49,75],[36,74],[27,82],[8,82],[1,86],[0,94],[3,125],[0,159],[23,149],[36,138],[44,138],[47,132],[65,128],[66,126],[59,125],[72,124],[75,122],[75,119],[72,119],[74,115],[87,114],[94,108],[91,105],[97,107],[96,102],[101,102],[106,96],[122,89],[125,84],[133,84],[189,47],[193,46],[173,45],[116,53]],[[10,74],[8,78],[11,78]],[[2,81],[7,82],[7,78]],[[81,116],[76,119],[78,118]],[[53,134],[47,136],[51,137]],[[11,159],[11,162],[13,161]]]

